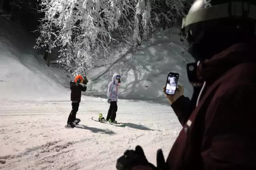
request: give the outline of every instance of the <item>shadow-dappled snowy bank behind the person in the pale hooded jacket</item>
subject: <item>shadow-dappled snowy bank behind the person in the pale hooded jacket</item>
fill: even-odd
[[[98,66],[89,73],[88,93],[92,96],[106,97],[109,81],[114,73],[122,75],[120,99],[152,100],[165,103],[162,87],[169,72],[180,74],[179,84],[184,85],[185,95],[191,97],[192,86],[186,75],[186,63],[194,59],[180,45],[179,29],[174,28],[172,35],[167,30],[159,30],[154,42],[144,42],[133,51],[124,55],[114,53],[116,60],[105,66]],[[113,57],[114,58],[114,57]]]

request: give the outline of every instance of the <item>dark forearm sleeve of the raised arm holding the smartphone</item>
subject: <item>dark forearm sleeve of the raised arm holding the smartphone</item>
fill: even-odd
[[[174,103],[172,103],[171,107],[178,117],[182,126],[188,121],[190,114],[188,112],[190,106],[190,99],[185,97],[184,95],[180,96]]]

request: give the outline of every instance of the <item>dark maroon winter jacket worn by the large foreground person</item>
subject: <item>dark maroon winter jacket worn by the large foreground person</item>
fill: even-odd
[[[191,101],[182,96],[171,105],[183,129],[168,170],[256,169],[255,47],[256,39],[236,44],[188,69],[196,87]]]

